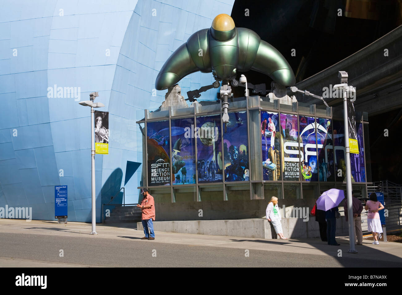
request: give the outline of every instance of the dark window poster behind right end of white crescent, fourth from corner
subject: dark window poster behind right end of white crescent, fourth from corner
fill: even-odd
[[[330,119],[317,118],[318,179],[334,181],[334,150]]]

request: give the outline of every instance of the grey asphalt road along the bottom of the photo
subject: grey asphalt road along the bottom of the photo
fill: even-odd
[[[0,233],[0,258],[103,267],[402,267],[402,262],[278,251],[121,240]],[[64,257],[60,257],[63,250]],[[1,260],[2,265],[12,260]],[[275,263],[274,263],[275,262]]]

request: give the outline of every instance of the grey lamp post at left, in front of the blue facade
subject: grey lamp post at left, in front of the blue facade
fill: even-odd
[[[92,92],[89,95],[90,100],[79,102],[82,106],[91,107],[91,199],[92,199],[92,232],[91,234],[98,234],[96,232],[96,203],[95,203],[95,122],[94,122],[94,108],[102,108],[105,105],[101,102],[94,102],[98,96],[98,92]]]

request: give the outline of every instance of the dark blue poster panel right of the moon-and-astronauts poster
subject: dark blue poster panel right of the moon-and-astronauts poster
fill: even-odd
[[[225,181],[248,181],[247,113],[229,113],[224,128]]]

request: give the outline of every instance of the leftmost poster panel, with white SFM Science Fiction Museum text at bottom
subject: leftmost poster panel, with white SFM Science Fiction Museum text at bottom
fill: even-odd
[[[169,121],[147,123],[148,186],[170,184]]]

